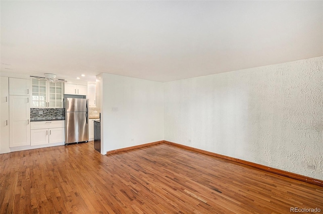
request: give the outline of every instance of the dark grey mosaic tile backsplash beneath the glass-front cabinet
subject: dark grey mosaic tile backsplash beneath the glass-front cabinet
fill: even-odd
[[[49,120],[65,120],[65,109],[30,109],[30,121]]]

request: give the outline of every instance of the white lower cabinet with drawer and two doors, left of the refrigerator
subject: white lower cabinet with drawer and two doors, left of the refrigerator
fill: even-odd
[[[30,145],[62,143],[65,141],[65,121],[31,122]]]

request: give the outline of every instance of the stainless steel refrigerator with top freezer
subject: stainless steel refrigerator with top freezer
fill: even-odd
[[[64,98],[65,144],[88,142],[88,99]]]

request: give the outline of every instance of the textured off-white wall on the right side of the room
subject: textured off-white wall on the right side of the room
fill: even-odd
[[[167,82],[165,140],[323,180],[322,66],[319,57]]]

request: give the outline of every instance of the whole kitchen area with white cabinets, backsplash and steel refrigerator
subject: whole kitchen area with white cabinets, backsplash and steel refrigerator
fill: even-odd
[[[96,83],[50,77],[1,76],[0,153],[94,140],[94,123],[100,122]],[[84,117],[71,117],[66,104],[77,107],[71,100],[83,101]]]

